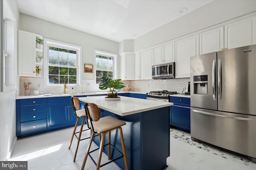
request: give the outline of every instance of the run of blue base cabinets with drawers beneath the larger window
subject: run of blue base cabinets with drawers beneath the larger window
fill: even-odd
[[[84,109],[84,103],[80,102],[80,104],[80,109]],[[16,136],[19,138],[73,127],[76,119],[71,97],[16,100]],[[81,123],[82,119],[79,120],[78,125]]]

